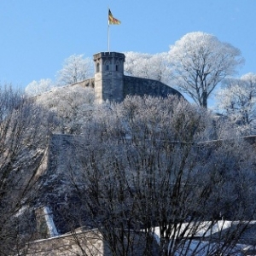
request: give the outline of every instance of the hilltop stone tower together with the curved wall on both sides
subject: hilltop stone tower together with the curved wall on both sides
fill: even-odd
[[[142,79],[124,74],[125,55],[118,52],[100,52],[93,55],[95,77],[80,84],[95,90],[95,101],[122,102],[125,96],[182,96],[177,90],[154,79]]]

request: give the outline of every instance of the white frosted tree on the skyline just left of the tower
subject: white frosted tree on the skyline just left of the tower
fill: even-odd
[[[93,73],[93,61],[85,58],[84,55],[71,55],[63,64],[60,71],[57,72],[57,84],[74,84],[84,79],[88,79]]]

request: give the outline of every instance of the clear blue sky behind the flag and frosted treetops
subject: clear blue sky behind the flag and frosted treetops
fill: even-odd
[[[22,88],[55,79],[73,54],[160,53],[188,32],[212,33],[241,49],[238,75],[256,73],[256,0],[1,0],[0,82]]]

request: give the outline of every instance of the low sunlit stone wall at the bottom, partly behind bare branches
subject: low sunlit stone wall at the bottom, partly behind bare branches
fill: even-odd
[[[116,243],[113,244],[115,249],[118,248],[116,254],[123,255],[122,252],[125,248],[127,255],[145,255],[146,238],[143,233],[130,230],[129,242],[127,241],[127,237],[128,236],[123,237],[121,242],[119,239],[116,239]],[[158,255],[159,247],[155,240],[153,240],[152,247],[149,251],[150,253],[147,255]],[[110,247],[108,247],[108,242],[102,240],[102,234],[99,230],[83,231],[82,229],[73,234],[69,233],[63,236],[55,236],[49,239],[33,241],[27,244],[23,253],[25,255],[34,256],[113,255]]]

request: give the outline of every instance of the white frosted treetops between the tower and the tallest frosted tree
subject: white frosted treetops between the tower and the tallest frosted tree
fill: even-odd
[[[167,53],[150,55],[126,52],[125,74],[143,79],[155,79],[168,84],[170,69],[167,65]]]

